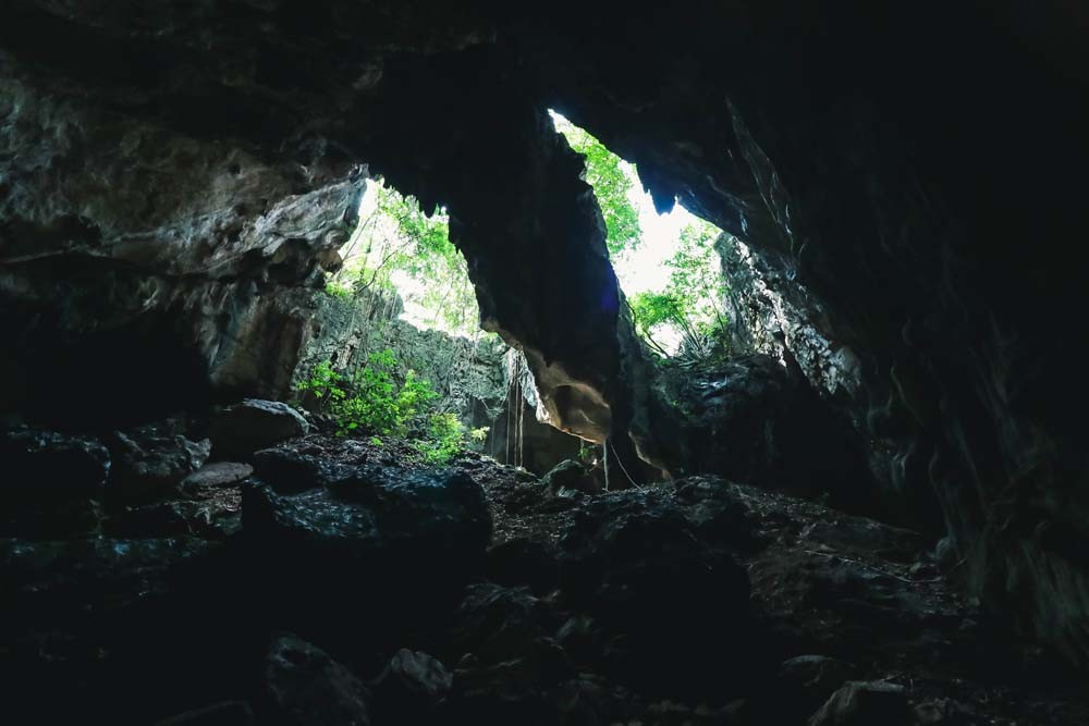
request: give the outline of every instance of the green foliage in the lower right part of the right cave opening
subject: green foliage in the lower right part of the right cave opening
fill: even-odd
[[[663,355],[654,334],[666,325],[680,330],[686,355],[702,357],[722,349],[727,291],[714,249],[719,234],[707,222],[685,226],[677,251],[666,262],[670,281],[665,290],[639,293],[628,302],[636,330]]]

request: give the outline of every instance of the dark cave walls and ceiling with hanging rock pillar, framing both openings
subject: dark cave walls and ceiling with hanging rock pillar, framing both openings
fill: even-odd
[[[169,362],[189,396],[282,386],[366,163],[449,208],[553,421],[661,464],[554,108],[660,208],[805,285],[857,357],[883,485],[986,603],[1084,663],[1089,14],[884,5],[5,0],[0,365],[40,380],[4,403],[96,365],[151,390],[139,371]]]

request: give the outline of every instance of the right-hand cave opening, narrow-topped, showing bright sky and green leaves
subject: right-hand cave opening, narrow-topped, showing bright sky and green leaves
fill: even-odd
[[[605,246],[636,330],[663,358],[724,352],[726,283],[717,249],[724,233],[681,204],[658,213],[636,167],[555,111],[555,130],[585,157],[585,179],[605,223]]]

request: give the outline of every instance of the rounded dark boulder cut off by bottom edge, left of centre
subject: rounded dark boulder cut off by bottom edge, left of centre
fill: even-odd
[[[370,694],[355,674],[302,638],[282,633],[265,668],[269,700],[293,726],[368,726]]]

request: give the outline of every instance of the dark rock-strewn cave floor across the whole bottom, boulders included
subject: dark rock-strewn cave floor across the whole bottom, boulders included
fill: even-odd
[[[7,435],[4,723],[1089,723],[917,532],[234,415],[293,438]]]

